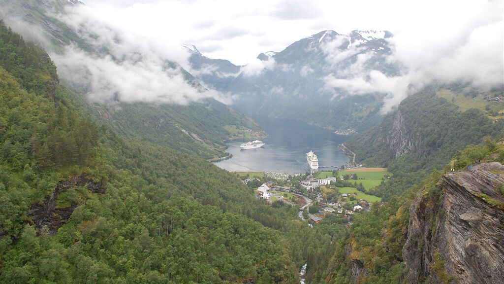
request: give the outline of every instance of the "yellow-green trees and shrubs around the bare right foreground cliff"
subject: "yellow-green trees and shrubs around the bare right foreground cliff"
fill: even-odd
[[[428,196],[430,200],[439,202],[443,196],[442,188],[438,186],[442,175],[448,173],[454,163],[456,170],[460,171],[467,168],[466,163],[475,160],[481,163],[504,163],[504,140],[501,139],[497,144],[495,140],[485,138],[480,144],[468,146],[457,152],[453,157],[453,162],[446,164],[443,170],[433,171],[400,197],[393,196],[385,206],[372,206],[370,212],[355,215],[352,226],[339,240],[335,254],[321,281],[338,284],[403,283],[407,272],[405,261],[413,265],[411,259],[403,258],[403,246],[406,243],[410,223],[409,208],[415,196],[417,194]],[[500,198],[502,198],[503,193],[502,190],[500,191]],[[491,201],[488,203],[491,204]],[[435,208],[436,204],[430,203],[427,206]],[[496,199],[492,206],[499,206]],[[426,217],[435,218],[435,216]],[[498,238],[498,236],[495,237]],[[442,279],[439,282],[444,280],[449,282],[453,276],[446,274],[443,265],[436,264],[443,261],[439,255],[434,254],[435,257],[437,259],[432,260],[431,269]]]

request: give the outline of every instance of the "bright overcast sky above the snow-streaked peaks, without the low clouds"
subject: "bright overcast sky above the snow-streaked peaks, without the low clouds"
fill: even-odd
[[[437,60],[478,27],[502,25],[502,0],[85,0],[95,16],[160,43],[195,44],[236,65],[322,30],[389,30],[406,57]],[[489,36],[500,36],[489,34]],[[429,55],[430,54],[430,55]]]

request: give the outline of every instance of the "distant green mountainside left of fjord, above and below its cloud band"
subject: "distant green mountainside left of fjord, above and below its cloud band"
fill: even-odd
[[[65,18],[68,21],[68,18],[72,17],[68,12],[79,5],[82,3],[77,2],[74,5],[66,0],[27,0],[21,2],[6,0],[2,8],[4,13],[9,15],[7,20],[16,23],[16,26],[30,37],[37,38],[39,44],[60,58],[82,53],[88,57],[84,62],[91,59],[102,61],[110,59],[111,62],[108,63],[116,66],[125,63],[136,67],[152,64],[150,62],[144,65],[138,60],[136,56],[140,58],[149,56],[142,54],[142,51],[132,52],[133,54],[128,54],[128,56],[114,54],[121,48],[128,48],[126,43],[123,43],[122,47],[108,46],[106,43],[100,45],[97,42],[100,42],[100,39],[103,40],[101,38],[103,35],[100,35],[98,31],[93,29],[83,31],[83,29],[72,27],[69,22],[65,22]],[[32,31],[20,25],[18,23],[20,20],[33,25],[31,27],[38,31],[37,35],[31,34]],[[116,43],[125,40],[121,38],[121,35],[117,34],[116,36]],[[47,55],[45,56],[47,57]],[[177,76],[177,78],[179,76],[183,81],[179,83],[189,88],[190,91],[198,93],[207,91],[193,75],[185,71],[178,63],[164,59],[160,61],[162,61],[160,63],[162,68],[159,72],[161,75],[165,75],[163,80],[169,81],[170,76]],[[212,96],[202,95],[200,100],[189,99],[186,104],[181,105],[171,101],[165,102],[161,99],[144,100],[142,97],[148,97],[149,92],[138,88],[129,90],[131,93],[128,96],[140,98],[133,102],[124,101],[121,98],[124,94],[116,91],[113,98],[107,99],[105,94],[100,93],[99,100],[95,100],[94,104],[88,104],[85,99],[90,92],[96,92],[97,81],[105,82],[105,89],[113,88],[113,83],[106,82],[106,78],[103,78],[107,76],[106,73],[93,74],[89,70],[89,66],[86,67],[85,64],[69,67],[72,64],[64,62],[62,65],[67,69],[64,74],[59,74],[62,78],[61,81],[65,81],[66,86],[73,91],[72,96],[79,107],[89,109],[90,114],[96,118],[99,124],[105,124],[120,134],[143,138],[151,143],[168,146],[183,153],[209,160],[228,155],[225,152],[226,146],[224,144],[227,139],[248,139],[266,135],[254,120],[236,112]],[[54,68],[53,65],[51,66],[48,68]],[[26,72],[23,74],[23,80],[32,82],[32,78],[27,77],[30,71],[27,69],[22,72]],[[54,75],[54,72],[55,69],[51,74]],[[132,76],[140,76],[140,74]],[[119,84],[124,83],[120,82]],[[163,89],[176,88],[165,83],[161,82]],[[187,97],[191,97],[191,95],[187,95]],[[250,136],[250,133],[253,135]]]

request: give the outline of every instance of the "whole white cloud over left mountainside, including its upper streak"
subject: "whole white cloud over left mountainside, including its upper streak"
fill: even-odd
[[[71,8],[62,19],[99,52],[70,45],[63,53],[51,53],[51,58],[60,77],[85,90],[89,100],[185,105],[214,98],[229,103],[230,98],[203,87],[175,63],[189,66],[190,55],[179,42],[158,41],[115,25],[113,15],[120,11],[108,11],[112,16],[103,18],[103,11],[96,13],[86,6]],[[204,71],[212,72],[210,69]]]

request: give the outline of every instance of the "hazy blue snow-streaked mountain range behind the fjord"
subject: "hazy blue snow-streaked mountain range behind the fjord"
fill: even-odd
[[[190,72],[222,92],[238,94],[233,107],[252,117],[295,119],[329,129],[370,128],[380,117],[384,93],[349,96],[344,87],[333,88],[331,79],[351,79],[371,71],[399,74],[388,63],[392,51],[388,31],[339,34],[332,30],[303,38],[281,52],[261,53],[264,68],[250,74],[247,66],[209,59],[194,45]]]

